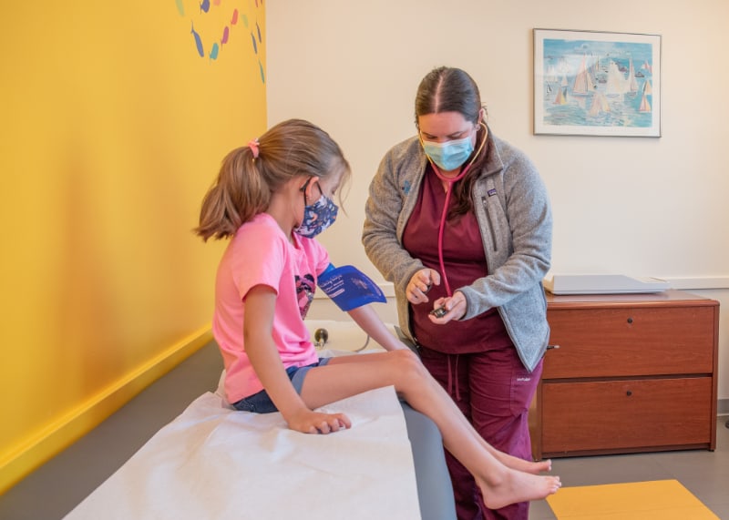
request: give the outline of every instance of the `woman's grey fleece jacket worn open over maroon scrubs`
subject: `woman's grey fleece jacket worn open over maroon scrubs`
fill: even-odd
[[[496,307],[519,358],[529,370],[549,341],[547,302],[541,280],[549,270],[552,216],[549,197],[529,158],[488,132],[487,161],[474,183],[473,202],[486,252],[488,276],[454,288],[466,297],[468,320]],[[362,242],[375,267],[395,285],[397,315],[406,337],[410,330],[406,286],[423,263],[402,245],[426,171],[419,140],[395,145],[382,159],[369,189]],[[436,247],[436,244],[433,245]]]

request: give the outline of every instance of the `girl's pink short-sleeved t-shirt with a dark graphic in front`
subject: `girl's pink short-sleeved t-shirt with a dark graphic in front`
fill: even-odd
[[[256,285],[268,285],[277,293],[272,335],[284,367],[318,361],[303,319],[329,255],[316,240],[294,233],[293,241],[271,215],[260,213],[238,229],[223,253],[215,281],[212,333],[221,349],[230,403],[263,389],[243,342],[245,297]]]

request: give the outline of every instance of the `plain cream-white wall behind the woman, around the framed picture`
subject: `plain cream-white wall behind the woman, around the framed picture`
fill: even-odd
[[[266,15],[269,123],[311,119],[354,168],[348,215],[322,239],[335,263],[382,280],[360,243],[367,186],[386,149],[414,135],[422,76],[459,66],[477,80],[492,131],[547,183],[553,272],[666,278],[729,305],[729,2],[273,0]],[[662,138],[533,135],[533,28],[662,35]]]

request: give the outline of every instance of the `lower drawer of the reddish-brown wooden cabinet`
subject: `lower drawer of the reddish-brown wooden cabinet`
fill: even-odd
[[[708,446],[711,395],[710,377],[545,382],[542,453]]]

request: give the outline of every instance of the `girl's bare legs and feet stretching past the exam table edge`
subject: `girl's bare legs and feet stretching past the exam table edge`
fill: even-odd
[[[549,461],[523,461],[484,441],[413,352],[334,358],[307,374],[302,398],[316,408],[389,385],[394,385],[410,406],[436,423],[444,446],[474,475],[489,508],[538,500],[560,488],[559,477],[539,475],[549,468]]]

